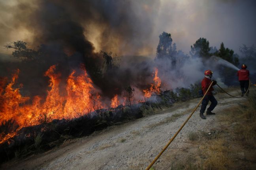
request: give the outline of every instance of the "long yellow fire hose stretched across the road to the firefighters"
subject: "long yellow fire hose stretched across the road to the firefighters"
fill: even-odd
[[[211,82],[209,88],[207,89],[207,91],[205,92],[205,94],[203,95],[203,97],[201,98],[200,102],[198,103],[198,105],[196,106],[196,108],[192,111],[192,113],[188,116],[188,118],[185,120],[185,122],[183,122],[183,124],[181,125],[181,127],[179,128],[179,130],[173,135],[173,137],[169,140],[168,144],[166,144],[166,146],[162,149],[162,151],[160,153],[158,153],[158,155],[155,157],[155,159],[151,162],[151,164],[149,164],[149,166],[147,166],[146,170],[149,170],[151,168],[151,166],[153,166],[153,164],[157,161],[157,159],[162,155],[162,153],[164,153],[164,151],[168,148],[168,146],[171,144],[171,142],[175,139],[175,137],[179,134],[179,132],[181,131],[181,129],[185,126],[185,124],[188,122],[188,120],[191,118],[191,116],[194,114],[194,112],[196,111],[196,109],[199,107],[199,105],[201,104],[201,102],[203,101],[203,99],[205,98],[207,92],[209,91],[210,87],[212,86],[213,81]],[[222,89],[218,84],[217,86]],[[249,91],[250,88],[250,82],[249,82],[249,87],[246,91],[245,94],[247,94],[247,92]],[[222,91],[224,91],[222,89]],[[224,91],[226,94],[228,94],[228,92]],[[228,94],[230,96],[232,96],[231,94]],[[235,98],[241,98],[241,97],[236,97],[236,96],[232,96]]]

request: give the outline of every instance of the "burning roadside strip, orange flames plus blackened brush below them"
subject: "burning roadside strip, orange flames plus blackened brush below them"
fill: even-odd
[[[68,76],[66,92],[60,90],[60,73],[56,73],[55,69],[56,65],[53,65],[45,72],[45,76],[49,78],[49,90],[44,100],[40,96],[30,99],[21,95],[22,85],[15,85],[19,70],[9,84],[5,83],[6,79],[0,82],[1,162],[43,152],[67,139],[86,136],[107,126],[154,114],[170,107],[174,102],[195,97],[193,94],[196,94],[195,88],[178,91],[179,94],[173,91],[162,92],[156,68],[153,90],[149,89],[154,100],[148,98],[144,102],[124,105],[127,98],[120,100],[120,96],[115,95],[110,107],[103,109],[107,105],[101,102],[101,96],[85,68],[73,70]],[[134,92],[131,87],[130,90],[129,104]],[[188,91],[191,91],[190,96],[184,99],[187,94],[183,93]],[[120,101],[123,105],[120,105]],[[174,121],[179,116],[181,115],[173,115],[160,123]]]

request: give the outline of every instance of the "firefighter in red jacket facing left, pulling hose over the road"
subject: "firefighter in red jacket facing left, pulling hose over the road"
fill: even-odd
[[[205,94],[207,89],[209,88],[209,86],[211,84],[212,76],[213,76],[213,72],[211,70],[205,71],[205,78],[203,78],[202,83],[201,83],[203,94]],[[212,86],[216,85],[216,84],[217,84],[217,81],[213,80]],[[208,109],[206,111],[206,115],[215,115],[215,113],[212,113],[211,111],[213,111],[213,109],[216,107],[218,102],[215,99],[215,97],[213,96],[212,91],[214,89],[212,86],[210,87],[209,91],[207,92],[207,94],[205,95],[205,98],[203,98],[203,101],[202,101],[202,105],[201,105],[201,109],[200,109],[200,118],[202,118],[202,119],[205,119],[205,116],[203,115],[203,113],[205,112],[205,109],[206,109],[209,101],[211,101],[211,105],[208,107]]]

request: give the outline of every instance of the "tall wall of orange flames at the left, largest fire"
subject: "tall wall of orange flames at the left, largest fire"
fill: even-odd
[[[10,131],[7,135],[0,134],[0,144],[14,137],[16,131],[26,126],[51,122],[53,119],[71,119],[88,114],[103,107],[100,95],[88,77],[85,68],[81,74],[75,76],[73,72],[66,80],[66,93],[60,93],[60,73],[55,73],[56,65],[51,66],[44,76],[49,77],[50,90],[47,91],[45,101],[36,96],[31,104],[29,97],[20,94],[13,86],[18,79],[19,70],[13,74],[11,82],[4,88],[4,80],[0,82],[0,123],[6,120],[15,120],[19,128]],[[61,95],[62,94],[62,95]]]

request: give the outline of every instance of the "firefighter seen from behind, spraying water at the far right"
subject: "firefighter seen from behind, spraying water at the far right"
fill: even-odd
[[[237,71],[238,81],[240,82],[240,87],[242,91],[242,96],[247,92],[249,87],[249,70],[246,69],[247,65],[243,64],[241,66],[241,70]],[[249,94],[249,90],[247,92],[247,95]]]

